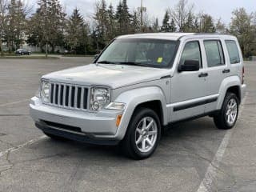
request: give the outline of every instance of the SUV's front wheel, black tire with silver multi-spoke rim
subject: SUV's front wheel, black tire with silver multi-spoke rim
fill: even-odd
[[[146,126],[149,126],[146,129]],[[161,137],[161,124],[154,110],[140,107],[134,111],[121,145],[129,158],[141,160],[154,154]]]

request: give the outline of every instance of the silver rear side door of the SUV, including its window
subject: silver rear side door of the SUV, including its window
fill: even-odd
[[[223,50],[225,42],[221,39],[206,39],[203,41],[206,57],[206,101],[205,113],[216,110],[219,97],[219,88],[224,78],[230,76],[230,68]]]

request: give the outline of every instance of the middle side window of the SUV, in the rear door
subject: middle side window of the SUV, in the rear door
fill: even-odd
[[[222,43],[218,40],[204,41],[207,65],[209,67],[225,65]]]

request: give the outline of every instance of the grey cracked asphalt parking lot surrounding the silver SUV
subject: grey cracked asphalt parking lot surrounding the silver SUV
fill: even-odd
[[[56,142],[35,128],[29,100],[42,74],[92,58],[0,60],[0,191],[256,191],[256,62],[233,130],[211,118],[172,127],[153,157],[117,147]]]

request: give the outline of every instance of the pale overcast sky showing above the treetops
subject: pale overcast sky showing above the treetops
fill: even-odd
[[[36,0],[33,1],[36,2]],[[116,7],[119,1],[106,0],[108,5],[111,2],[114,7]],[[61,2],[68,14],[72,13],[75,7],[78,7],[81,13],[88,18],[94,13],[95,0],[61,0]],[[127,2],[130,11],[137,9],[141,4],[141,0],[127,0]],[[166,8],[173,7],[177,2],[178,0],[143,0],[148,14],[158,17],[161,23]],[[245,7],[248,13],[256,11],[256,0],[189,0],[189,3],[194,4],[195,12],[203,11],[214,16],[215,20],[222,18],[222,21],[226,24],[230,23],[231,13],[238,7]]]

